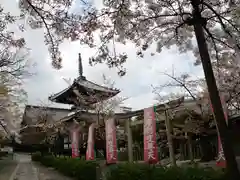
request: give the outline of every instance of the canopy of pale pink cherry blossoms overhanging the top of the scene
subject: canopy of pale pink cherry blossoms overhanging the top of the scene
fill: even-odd
[[[152,44],[156,51],[176,45],[181,53],[194,52],[199,64],[199,54],[193,43],[193,27],[201,23],[213,60],[222,58],[222,53],[235,56],[239,50],[239,1],[199,1],[202,18],[194,16],[193,0],[164,1],[101,1],[102,7],[94,7],[81,0],[81,8],[73,10],[75,1],[20,0],[21,19],[27,19],[31,28],[45,28],[45,43],[56,68],[61,67],[59,44],[64,39],[80,40],[90,47],[97,45],[95,32],[102,41],[91,64],[103,63],[109,67],[122,67],[127,60],[125,53],[118,54],[115,44],[132,41],[143,53]],[[101,3],[100,3],[101,4]],[[11,21],[9,20],[11,19]],[[12,22],[14,18],[8,18]],[[24,30],[24,28],[23,28]],[[100,32],[99,32],[100,30]],[[110,51],[109,45],[113,46]],[[120,69],[120,75],[124,75]]]

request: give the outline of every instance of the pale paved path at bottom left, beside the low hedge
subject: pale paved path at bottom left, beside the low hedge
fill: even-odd
[[[12,159],[1,161],[0,166],[2,163],[4,168],[0,170],[0,180],[71,180],[53,169],[32,162],[28,154],[15,154]]]

